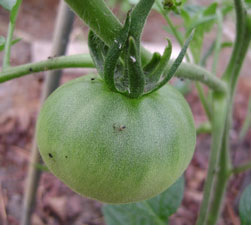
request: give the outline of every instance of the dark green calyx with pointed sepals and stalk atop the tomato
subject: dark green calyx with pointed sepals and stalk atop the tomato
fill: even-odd
[[[99,75],[111,91],[130,98],[139,98],[165,85],[181,64],[192,35],[186,41],[179,56],[168,70],[172,44],[168,41],[163,55],[154,53],[152,59],[142,65],[140,39],[154,0],[141,0],[127,14],[126,21],[112,45],[107,46],[92,30],[89,32],[90,54]]]

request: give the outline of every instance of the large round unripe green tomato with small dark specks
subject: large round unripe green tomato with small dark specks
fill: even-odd
[[[46,100],[37,142],[48,168],[77,193],[129,203],[161,193],[182,175],[196,132],[186,100],[170,85],[130,99],[85,76]]]

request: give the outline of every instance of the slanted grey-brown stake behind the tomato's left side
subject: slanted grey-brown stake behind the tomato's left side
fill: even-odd
[[[59,12],[55,24],[55,32],[53,36],[52,56],[63,55],[69,41],[70,32],[74,21],[74,14],[69,10],[67,5],[61,1]],[[53,59],[52,59],[53,60]],[[46,76],[41,104],[44,100],[59,86],[61,70],[50,71]],[[31,214],[35,205],[37,187],[41,172],[37,170],[36,164],[40,163],[40,155],[37,149],[37,143],[34,137],[32,145],[31,162],[29,165],[27,183],[23,200],[23,213],[21,225],[31,224]]]

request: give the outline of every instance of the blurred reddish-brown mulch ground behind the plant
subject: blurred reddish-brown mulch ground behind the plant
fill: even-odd
[[[206,1],[204,2],[208,4]],[[23,1],[15,31],[15,36],[22,37],[23,40],[13,47],[12,65],[32,61],[34,43],[38,41],[50,42],[54,30],[57,4],[56,0]],[[176,23],[180,23],[178,19],[174,19]],[[143,40],[155,44],[164,43],[165,37],[170,37],[163,31],[164,25],[163,18],[152,13],[144,31]],[[227,26],[229,33],[234,34],[234,24],[228,22]],[[8,14],[0,8],[0,35],[6,35],[7,27]],[[76,19],[71,42],[85,41],[86,34],[86,26]],[[208,39],[212,39],[213,36],[214,32],[208,34]],[[225,35],[224,38],[229,40],[231,35]],[[221,54],[218,74],[224,70],[229,55],[230,50],[228,49]],[[2,53],[0,53],[0,62],[2,62]],[[231,153],[234,165],[251,159],[251,131],[248,131],[242,142],[238,138],[239,130],[247,113],[248,95],[251,90],[250,63],[251,59],[247,58],[235,98],[234,122],[231,130]],[[62,82],[77,76],[79,76],[79,72],[64,72]],[[18,225],[21,218],[25,179],[43,83],[44,73],[41,73],[0,85],[0,225]],[[194,113],[196,124],[206,121],[195,88],[186,98]],[[199,135],[195,155],[185,173],[185,197],[178,212],[172,216],[171,224],[194,224],[202,200],[209,149],[210,136],[207,134]],[[220,218],[219,224],[240,224],[237,210],[238,200],[236,199],[248,181],[250,182],[249,173],[231,179],[223,216]],[[104,224],[104,219],[99,202],[80,197],[52,174],[44,172],[37,192],[37,205],[32,216],[32,224],[101,225]]]

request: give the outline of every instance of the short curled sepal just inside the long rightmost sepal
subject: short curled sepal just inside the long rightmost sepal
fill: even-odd
[[[171,54],[172,54],[172,43],[169,39],[167,39],[167,41],[168,41],[168,46],[165,48],[164,54],[161,57],[161,60],[158,64],[158,66],[156,67],[156,69],[154,71],[152,71],[151,74],[149,74],[149,79],[152,82],[158,82],[161,75],[167,69],[168,61],[169,61]]]

